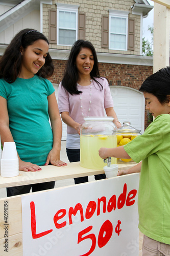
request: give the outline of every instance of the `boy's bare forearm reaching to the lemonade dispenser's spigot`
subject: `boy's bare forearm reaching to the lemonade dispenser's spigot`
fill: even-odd
[[[101,158],[115,157],[115,158],[131,158],[126,151],[124,146],[118,146],[113,148],[101,147],[99,150],[99,156]]]

